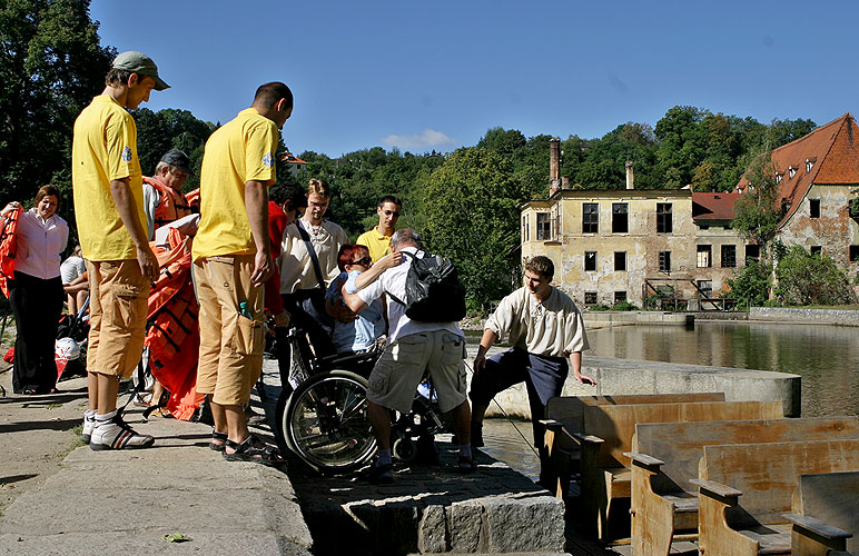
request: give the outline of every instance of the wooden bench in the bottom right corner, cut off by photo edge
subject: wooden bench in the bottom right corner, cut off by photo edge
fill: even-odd
[[[859,471],[800,475],[791,507],[793,556],[859,552]]]

